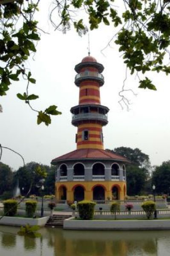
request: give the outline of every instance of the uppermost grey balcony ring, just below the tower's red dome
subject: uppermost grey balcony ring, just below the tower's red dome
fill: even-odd
[[[92,71],[85,71],[83,73],[77,74],[75,76],[75,84],[79,86],[81,81],[84,81],[87,79],[98,81],[100,86],[104,84],[104,76],[101,73],[92,72]]]

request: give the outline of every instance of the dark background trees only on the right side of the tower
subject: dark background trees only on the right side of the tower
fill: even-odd
[[[127,170],[127,195],[149,195],[153,194],[152,186],[156,186],[156,194],[170,193],[170,160],[163,162],[160,166],[150,165],[150,159],[139,148],[119,147],[109,150],[130,160],[126,166]]]

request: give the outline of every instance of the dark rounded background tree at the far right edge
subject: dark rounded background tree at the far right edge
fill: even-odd
[[[158,194],[168,194],[170,191],[170,160],[156,166],[153,172],[152,184],[156,186]]]

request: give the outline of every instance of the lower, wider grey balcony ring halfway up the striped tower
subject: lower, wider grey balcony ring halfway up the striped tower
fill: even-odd
[[[102,125],[107,125],[107,115],[100,114],[100,113],[80,113],[80,114],[73,114],[72,115],[72,125],[78,125],[80,121],[86,121],[86,120],[94,120],[94,121],[100,121]]]

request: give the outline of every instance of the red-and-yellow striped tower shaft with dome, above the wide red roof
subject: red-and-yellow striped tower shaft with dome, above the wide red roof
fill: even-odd
[[[72,125],[78,127],[77,149],[104,148],[102,126],[107,125],[109,109],[101,105],[100,87],[104,84],[102,64],[88,56],[75,66],[78,73],[75,84],[79,87],[79,105],[71,108]]]

